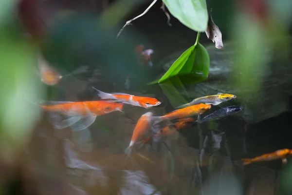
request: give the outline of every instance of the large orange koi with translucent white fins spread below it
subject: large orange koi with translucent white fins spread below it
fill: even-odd
[[[68,117],[60,122],[54,121],[56,129],[71,126],[75,131],[80,131],[89,127],[97,116],[106,115],[113,111],[123,112],[123,104],[109,101],[51,101],[49,103],[53,105],[40,105],[40,107]],[[78,121],[81,123],[77,124]]]

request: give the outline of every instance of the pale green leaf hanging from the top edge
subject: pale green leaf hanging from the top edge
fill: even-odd
[[[206,0],[163,0],[169,12],[188,28],[205,32],[208,24]]]

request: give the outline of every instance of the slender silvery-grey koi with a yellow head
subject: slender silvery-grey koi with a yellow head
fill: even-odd
[[[233,99],[233,98],[236,98],[236,96],[232,95],[232,94],[218,93],[217,95],[196,98],[193,101],[191,101],[187,104],[183,104],[177,108],[178,109],[185,108],[187,106],[192,106],[192,105],[199,104],[199,103],[218,105],[218,104],[222,103],[223,101],[228,101],[228,100]]]

